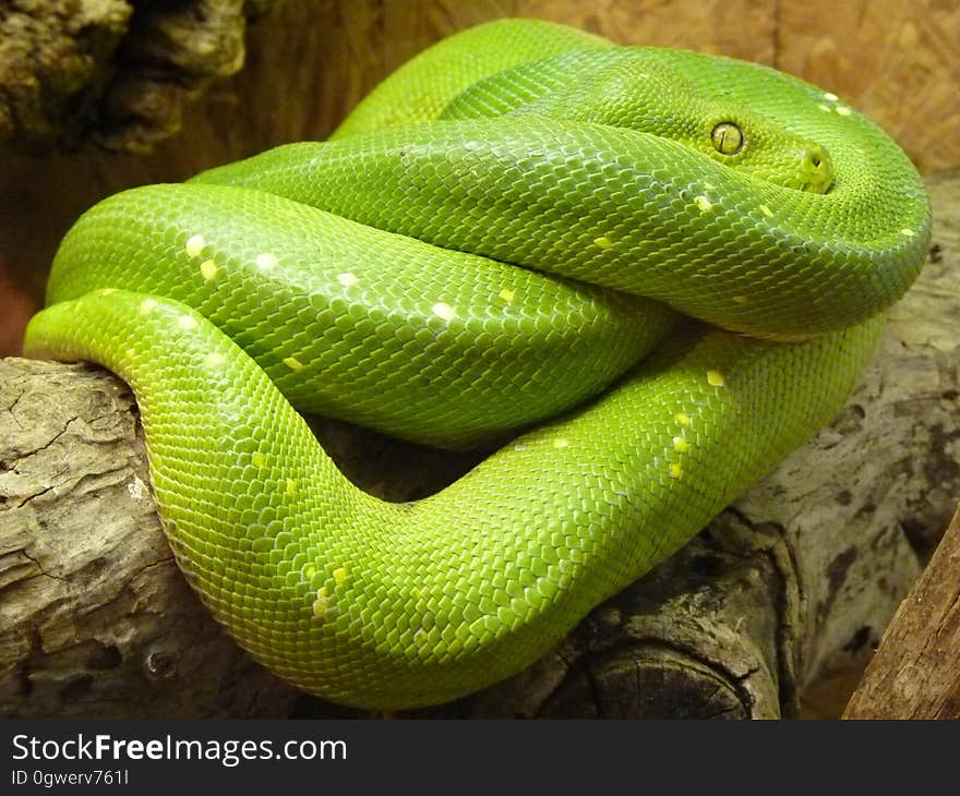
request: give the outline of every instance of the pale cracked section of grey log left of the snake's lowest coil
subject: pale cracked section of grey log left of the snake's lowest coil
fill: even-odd
[[[0,360],[0,716],[284,715],[173,563],[127,386]]]

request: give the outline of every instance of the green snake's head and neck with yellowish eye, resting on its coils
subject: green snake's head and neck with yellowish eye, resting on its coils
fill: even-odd
[[[833,166],[821,144],[755,111],[734,86],[697,88],[669,56],[635,47],[563,53],[475,84],[443,118],[533,114],[625,128],[783,188],[830,189]],[[531,93],[544,72],[554,76]]]

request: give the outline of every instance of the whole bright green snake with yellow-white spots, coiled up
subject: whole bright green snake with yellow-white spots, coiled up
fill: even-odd
[[[422,705],[543,655],[828,422],[929,226],[832,93],[497,21],[327,142],[88,210],[25,350],[129,382],[176,559],[245,650]],[[292,407],[502,447],[384,503]]]

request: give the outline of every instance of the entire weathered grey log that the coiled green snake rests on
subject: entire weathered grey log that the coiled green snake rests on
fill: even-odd
[[[812,682],[868,656],[960,494],[960,178],[929,188],[932,262],[833,423],[528,671],[405,715],[796,715]],[[178,577],[125,388],[83,366],[0,367],[0,711],[287,710],[292,692]],[[339,423],[317,433],[393,499],[475,461]],[[357,713],[303,698],[295,714]]]

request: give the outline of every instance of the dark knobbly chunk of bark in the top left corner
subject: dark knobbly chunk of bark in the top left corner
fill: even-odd
[[[243,65],[271,0],[13,0],[0,7],[0,141],[147,152]]]

